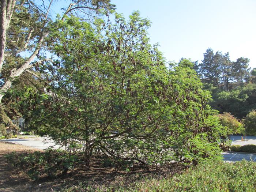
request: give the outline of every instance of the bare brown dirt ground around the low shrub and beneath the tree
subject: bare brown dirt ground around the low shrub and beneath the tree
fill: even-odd
[[[88,170],[88,167],[78,167],[69,171],[67,175],[56,179],[48,177],[41,178],[39,181],[32,181],[23,172],[18,171],[6,162],[5,154],[16,151],[18,153],[31,153],[38,149],[0,142],[0,191],[1,192],[55,192],[70,187],[78,182],[86,182],[94,186],[102,184],[120,184],[131,185],[135,180],[143,180],[145,177],[152,176],[162,178],[182,172],[184,166],[174,164],[173,167],[142,167],[135,165],[130,172],[117,167],[103,167],[101,161],[94,161]]]

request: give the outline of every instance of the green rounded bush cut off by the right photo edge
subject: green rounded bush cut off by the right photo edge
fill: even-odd
[[[248,113],[243,120],[245,132],[248,135],[256,135],[256,110]]]

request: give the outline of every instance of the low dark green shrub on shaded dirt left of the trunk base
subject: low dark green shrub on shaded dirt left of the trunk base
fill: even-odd
[[[36,151],[31,154],[10,153],[5,155],[7,162],[12,166],[26,172],[32,180],[38,180],[42,176],[56,177],[74,169],[80,162],[80,158],[67,151],[53,150]]]

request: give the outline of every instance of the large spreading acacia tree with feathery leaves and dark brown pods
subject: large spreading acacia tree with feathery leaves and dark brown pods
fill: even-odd
[[[220,157],[221,126],[188,60],[168,70],[149,44],[150,22],[59,19],[45,63],[51,95],[32,93],[24,108],[41,135],[74,147],[85,161],[96,153],[140,163],[199,162]],[[186,63],[187,62],[187,63]]]

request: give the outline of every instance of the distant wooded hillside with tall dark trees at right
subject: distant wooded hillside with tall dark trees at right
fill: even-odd
[[[194,69],[212,94],[210,105],[220,113],[230,112],[244,118],[256,109],[256,68],[249,68],[248,58],[230,61],[229,53],[214,53],[208,48],[202,63],[194,62]]]

